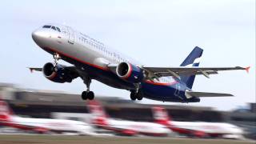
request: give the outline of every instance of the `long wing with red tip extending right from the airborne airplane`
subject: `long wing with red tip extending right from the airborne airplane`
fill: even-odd
[[[152,78],[157,77],[167,77],[167,76],[174,76],[179,78],[180,76],[186,75],[198,75],[203,74],[206,78],[209,78],[210,74],[218,74],[218,71],[222,70],[248,70],[250,67],[142,67],[143,70],[146,70],[148,74],[153,75]]]

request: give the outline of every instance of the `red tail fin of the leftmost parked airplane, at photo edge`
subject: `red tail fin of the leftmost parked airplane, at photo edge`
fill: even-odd
[[[0,122],[10,121],[10,116],[13,114],[8,103],[0,100]]]

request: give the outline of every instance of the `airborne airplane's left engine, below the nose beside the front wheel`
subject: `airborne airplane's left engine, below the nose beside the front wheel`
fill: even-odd
[[[56,65],[48,62],[42,67],[42,73],[44,76],[52,82],[64,83],[72,82],[73,78],[69,70],[66,70],[65,66]]]

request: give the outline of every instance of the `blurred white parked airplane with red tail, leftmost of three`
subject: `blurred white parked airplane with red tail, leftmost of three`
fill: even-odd
[[[38,134],[94,135],[93,128],[85,122],[50,118],[22,118],[14,114],[7,102],[0,100],[0,126],[31,130]]]

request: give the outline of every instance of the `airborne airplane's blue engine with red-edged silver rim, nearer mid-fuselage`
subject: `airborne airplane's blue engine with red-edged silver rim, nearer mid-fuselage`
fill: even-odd
[[[118,74],[119,78],[133,83],[142,82],[144,78],[143,70],[141,68],[127,62],[119,63],[116,73]]]

